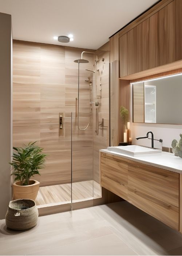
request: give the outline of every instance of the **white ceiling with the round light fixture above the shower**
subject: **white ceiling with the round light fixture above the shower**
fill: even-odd
[[[13,39],[98,49],[157,0],[0,0],[12,15]],[[59,43],[54,36],[74,35]]]

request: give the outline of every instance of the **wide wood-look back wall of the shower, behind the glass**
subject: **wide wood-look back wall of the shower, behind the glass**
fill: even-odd
[[[78,64],[82,51],[88,49],[13,41],[13,146],[37,141],[48,154],[41,170],[41,186],[71,181],[71,112],[73,181],[93,179],[92,123],[79,131],[75,119],[78,97]],[[89,84],[93,69],[90,62],[80,64],[80,125],[89,121]],[[60,136],[59,112],[63,112],[64,129]]]

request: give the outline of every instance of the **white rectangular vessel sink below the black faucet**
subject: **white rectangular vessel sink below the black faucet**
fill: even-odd
[[[161,149],[147,148],[136,145],[129,146],[118,146],[118,147],[107,147],[109,151],[114,151],[121,154],[126,155],[142,155],[142,154],[153,154],[153,153],[161,153]]]

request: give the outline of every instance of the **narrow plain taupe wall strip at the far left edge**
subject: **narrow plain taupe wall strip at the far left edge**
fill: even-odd
[[[0,219],[11,200],[12,35],[11,15],[0,13]]]

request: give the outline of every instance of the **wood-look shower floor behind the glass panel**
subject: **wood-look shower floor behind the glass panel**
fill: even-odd
[[[72,183],[72,200],[99,197],[100,185],[97,182],[80,181]],[[71,183],[40,187],[36,198],[37,205],[71,201]]]

